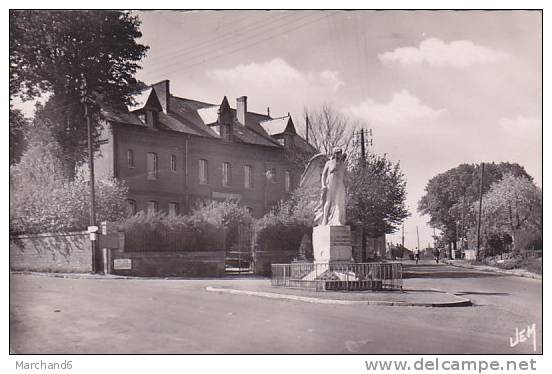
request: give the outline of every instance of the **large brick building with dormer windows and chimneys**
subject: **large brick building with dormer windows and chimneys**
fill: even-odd
[[[315,149],[291,116],[171,95],[169,81],[136,96],[128,111],[104,110],[106,123],[96,171],[126,181],[128,208],[185,213],[208,200],[235,199],[256,217],[297,186],[296,161]]]

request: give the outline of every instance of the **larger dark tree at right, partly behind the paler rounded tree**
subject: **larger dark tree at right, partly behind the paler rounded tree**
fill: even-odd
[[[418,211],[430,217],[431,227],[442,231],[449,251],[456,249],[456,239],[467,239],[467,228],[476,223],[473,203],[479,199],[481,166],[461,164],[431,178],[425,194],[418,202]],[[532,180],[525,169],[516,163],[485,164],[483,193],[508,173]]]

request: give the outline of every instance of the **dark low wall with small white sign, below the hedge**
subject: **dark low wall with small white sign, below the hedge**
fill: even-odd
[[[224,275],[225,251],[124,252],[108,250],[108,272],[140,277]]]

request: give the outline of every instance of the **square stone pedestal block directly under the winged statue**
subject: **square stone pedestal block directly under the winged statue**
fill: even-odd
[[[312,231],[314,263],[353,262],[349,226],[316,226]]]

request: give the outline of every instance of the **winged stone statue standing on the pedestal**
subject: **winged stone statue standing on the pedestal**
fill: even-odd
[[[317,226],[345,225],[345,159],[341,148],[334,148],[332,157],[314,156],[303,173],[300,186],[320,187],[320,203],[314,212]]]

